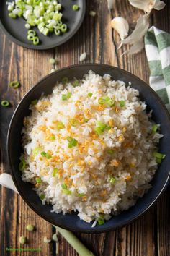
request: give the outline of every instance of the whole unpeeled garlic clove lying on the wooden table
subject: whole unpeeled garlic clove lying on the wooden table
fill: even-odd
[[[128,36],[129,24],[123,17],[115,17],[112,19],[111,27],[117,31],[121,40],[124,40]]]

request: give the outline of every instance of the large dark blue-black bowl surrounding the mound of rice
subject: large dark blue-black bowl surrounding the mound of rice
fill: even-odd
[[[51,213],[50,210],[52,210],[52,206],[42,205],[40,198],[32,190],[32,185],[22,182],[21,172],[18,169],[19,157],[22,153],[22,121],[24,116],[30,114],[28,109],[30,102],[39,98],[42,92],[45,93],[45,95],[50,94],[55,82],[60,81],[62,77],[68,77],[69,79],[73,79],[73,77],[82,78],[90,69],[101,75],[106,73],[110,74],[113,80],[123,80],[127,84],[129,81],[132,82],[132,87],[140,91],[140,99],[146,101],[148,110],[153,109],[153,119],[156,121],[156,124],[161,124],[161,133],[164,137],[161,139],[159,148],[160,152],[166,154],[166,158],[161,163],[161,166],[159,166],[158,171],[156,171],[156,175],[153,178],[153,187],[149,189],[148,193],[138,200],[138,202],[129,210],[123,211],[119,215],[112,217],[109,221],[106,221],[104,225],[95,226],[93,229],[91,229],[91,223],[81,221],[79,217],[76,216],[76,213],[68,214],[66,216],[63,216],[63,214]],[[117,67],[103,64],[75,65],[48,74],[48,76],[40,80],[37,85],[24,95],[24,98],[22,98],[22,101],[14,112],[9,126],[7,148],[14,184],[24,201],[27,202],[27,205],[29,205],[35,213],[56,226],[61,226],[72,231],[89,233],[111,231],[127,225],[131,221],[134,221],[135,218],[138,218],[141,214],[145,213],[146,210],[156,202],[166,188],[166,185],[169,182],[170,171],[170,117],[164,104],[161,102],[160,98],[158,98],[158,95],[146,85],[145,82],[138,77],[135,77],[133,74]]]

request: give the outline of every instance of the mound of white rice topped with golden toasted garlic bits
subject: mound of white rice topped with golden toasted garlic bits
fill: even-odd
[[[68,92],[71,97],[63,101],[62,95]],[[99,104],[104,95],[115,106]],[[95,225],[99,218],[107,220],[130,208],[147,192],[157,168],[153,152],[162,135],[151,134],[151,113],[146,114],[146,103],[138,95],[138,90],[112,81],[109,74],[101,77],[91,71],[79,86],[60,83],[52,95],[30,106],[32,113],[24,119],[22,130],[26,162],[22,179],[35,184],[38,195],[45,195],[42,203],[51,203],[55,213],[77,210],[81,220]],[[120,107],[120,101],[125,106]],[[76,127],[70,119],[78,121]],[[65,128],[56,129],[58,121]],[[97,135],[97,121],[109,129]],[[76,139],[77,145],[68,148],[68,137]],[[51,157],[42,156],[42,151]],[[58,168],[55,176],[54,168]],[[36,184],[37,177],[40,184]]]

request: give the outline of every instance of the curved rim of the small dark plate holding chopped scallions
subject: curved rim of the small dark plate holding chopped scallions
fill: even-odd
[[[63,43],[66,43],[68,40],[70,40],[73,35],[75,35],[79,28],[81,27],[81,24],[82,22],[84,21],[84,17],[85,17],[85,14],[86,14],[86,0],[81,0],[82,3],[83,3],[83,8],[82,8],[82,14],[81,14],[81,18],[79,20],[79,23],[77,24],[76,28],[72,31],[72,33],[70,33],[68,35],[68,37],[66,37],[65,39],[61,40],[61,43],[53,43],[51,46],[35,46],[35,45],[31,45],[31,44],[27,44],[27,43],[23,43],[21,40],[18,40],[17,38],[15,38],[11,33],[9,33],[8,30],[6,30],[6,26],[4,26],[3,22],[1,21],[1,18],[0,18],[0,27],[1,27],[1,30],[4,32],[4,34],[10,39],[12,40],[12,42],[16,43],[18,46],[22,46],[24,48],[29,48],[29,49],[32,49],[32,50],[38,50],[38,51],[42,51],[42,50],[49,50],[49,49],[52,49],[52,48],[55,48],[57,46],[61,46],[63,45]],[[50,38],[49,38],[50,40]]]

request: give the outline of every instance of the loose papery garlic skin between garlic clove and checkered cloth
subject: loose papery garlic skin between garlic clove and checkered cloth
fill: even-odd
[[[136,54],[141,51],[144,47],[143,37],[146,34],[149,27],[149,14],[141,16],[135,26],[133,33],[122,40],[122,44],[130,44],[130,50],[126,51],[129,54]],[[125,53],[126,53],[125,52]],[[124,53],[124,54],[125,54]]]

